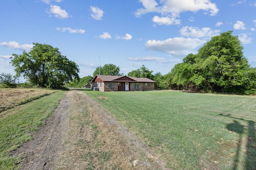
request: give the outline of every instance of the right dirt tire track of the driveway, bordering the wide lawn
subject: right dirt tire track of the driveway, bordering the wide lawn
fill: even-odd
[[[138,137],[133,133],[130,133],[128,129],[121,125],[116,118],[109,113],[106,109],[100,106],[95,100],[86,97],[87,102],[90,103],[92,118],[94,122],[97,122],[98,125],[101,125],[102,138],[111,139],[109,136],[112,133],[113,137],[122,138],[124,137],[125,145],[120,147],[126,147],[126,151],[129,156],[126,157],[126,160],[132,162],[132,164],[137,164],[138,167],[132,167],[134,169],[166,169],[166,164],[163,162],[159,156],[154,154],[148,146],[146,146]],[[108,137],[107,137],[108,136]],[[113,138],[112,137],[112,138]],[[139,166],[140,165],[140,166]]]

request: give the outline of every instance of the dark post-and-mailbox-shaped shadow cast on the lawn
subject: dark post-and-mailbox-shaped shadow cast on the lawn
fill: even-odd
[[[226,126],[226,129],[229,131],[235,132],[239,134],[238,137],[238,144],[236,148],[236,155],[234,157],[234,162],[233,162],[233,168],[232,170],[237,170],[238,169],[238,162],[239,162],[239,153],[241,151],[241,145],[242,145],[242,136],[243,134],[247,134],[247,144],[246,144],[246,158],[244,162],[244,169],[246,170],[256,170],[256,128],[255,128],[255,121],[251,120],[246,120],[246,119],[241,119],[241,118],[236,118],[232,117],[230,114],[228,115],[223,115],[222,116],[230,117],[234,119],[233,123],[228,123]],[[237,120],[243,120],[247,121],[248,126],[246,125],[241,125]],[[246,129],[248,130],[248,133],[246,133]]]

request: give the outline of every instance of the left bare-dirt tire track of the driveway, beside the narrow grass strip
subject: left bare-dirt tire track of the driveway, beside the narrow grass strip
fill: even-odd
[[[33,140],[24,143],[13,152],[24,155],[21,170],[50,170],[56,167],[56,158],[65,150],[63,140],[68,130],[66,114],[70,104],[70,93],[66,93],[44,126],[32,134]]]

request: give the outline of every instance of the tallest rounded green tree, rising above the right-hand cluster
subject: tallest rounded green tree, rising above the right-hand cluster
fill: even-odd
[[[243,72],[249,68],[243,47],[232,31],[212,37],[199,49],[196,62],[210,90],[242,88],[246,83]]]

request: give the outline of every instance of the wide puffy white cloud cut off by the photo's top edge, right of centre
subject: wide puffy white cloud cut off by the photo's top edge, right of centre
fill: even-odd
[[[198,10],[210,11],[210,15],[214,16],[218,13],[216,4],[210,0],[160,0],[160,4],[156,0],[139,0],[144,8],[137,9],[135,16],[139,17],[149,12],[158,12],[161,14],[172,14],[175,16],[181,12]]]

